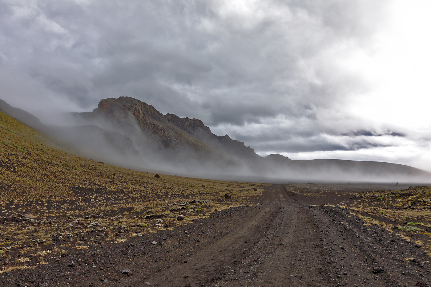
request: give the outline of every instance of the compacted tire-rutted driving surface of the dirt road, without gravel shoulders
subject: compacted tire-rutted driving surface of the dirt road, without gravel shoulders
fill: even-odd
[[[282,185],[273,185],[249,218],[195,254],[187,263],[159,272],[148,283],[159,286],[326,286],[321,272],[319,231],[309,211],[294,204]],[[300,238],[300,239],[298,239]],[[311,260],[310,260],[311,259]],[[333,272],[326,273],[330,274]],[[319,274],[322,273],[323,275]],[[136,282],[137,284],[143,281]],[[319,282],[319,285],[315,285]]]

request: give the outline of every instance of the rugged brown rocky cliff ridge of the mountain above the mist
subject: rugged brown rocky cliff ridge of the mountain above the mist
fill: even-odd
[[[181,118],[175,114],[163,115],[152,105],[131,98],[102,99],[90,113],[75,113],[86,119],[104,118],[121,125],[137,124],[153,142],[173,150],[193,150],[201,154],[217,154],[218,151],[236,157],[259,157],[253,148],[228,135],[216,136],[201,120]]]

